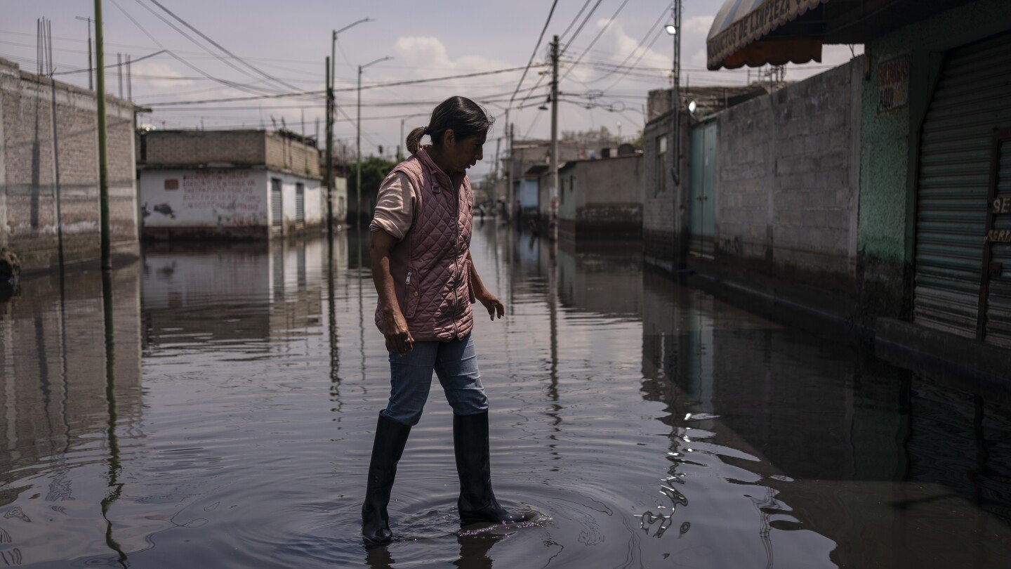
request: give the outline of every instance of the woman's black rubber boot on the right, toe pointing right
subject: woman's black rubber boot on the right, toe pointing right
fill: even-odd
[[[491,491],[487,411],[473,415],[453,414],[453,446],[456,451],[456,472],[460,476],[457,506],[463,523],[515,523],[534,517],[532,511],[505,511]]]

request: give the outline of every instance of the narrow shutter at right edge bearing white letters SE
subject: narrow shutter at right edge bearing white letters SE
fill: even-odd
[[[1011,347],[1011,132],[997,140],[984,340]],[[1005,241],[1005,242],[1002,242]]]

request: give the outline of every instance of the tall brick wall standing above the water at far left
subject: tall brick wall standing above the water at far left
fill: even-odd
[[[94,92],[56,82],[55,96],[54,113],[53,83],[0,59],[0,245],[21,258],[25,271],[59,263],[58,202],[65,259],[100,255]],[[106,101],[112,246],[136,255],[132,105]]]

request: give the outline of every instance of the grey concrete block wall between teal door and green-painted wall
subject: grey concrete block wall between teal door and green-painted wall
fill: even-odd
[[[853,294],[862,68],[718,117],[715,262]]]

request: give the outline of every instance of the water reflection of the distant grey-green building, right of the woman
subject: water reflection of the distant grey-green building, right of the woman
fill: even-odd
[[[558,296],[576,311],[639,317],[642,309],[642,254],[628,247],[559,247]]]

